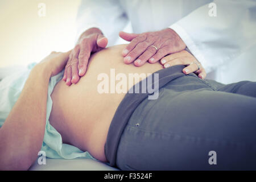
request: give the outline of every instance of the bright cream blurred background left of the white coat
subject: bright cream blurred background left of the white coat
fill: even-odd
[[[46,4],[40,17],[39,3]],[[80,0],[0,0],[0,67],[27,65],[75,46]]]

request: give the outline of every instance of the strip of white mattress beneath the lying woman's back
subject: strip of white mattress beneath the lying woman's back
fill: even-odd
[[[46,164],[38,164],[38,160],[30,167],[30,171],[117,171],[117,168],[93,159],[49,159]]]

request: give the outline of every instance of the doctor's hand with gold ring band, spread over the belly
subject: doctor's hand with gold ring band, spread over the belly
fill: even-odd
[[[130,42],[123,49],[123,61],[126,64],[134,62],[137,67],[140,67],[146,61],[156,63],[164,56],[186,48],[183,40],[171,28],[143,34],[129,34],[121,31],[119,36]]]

